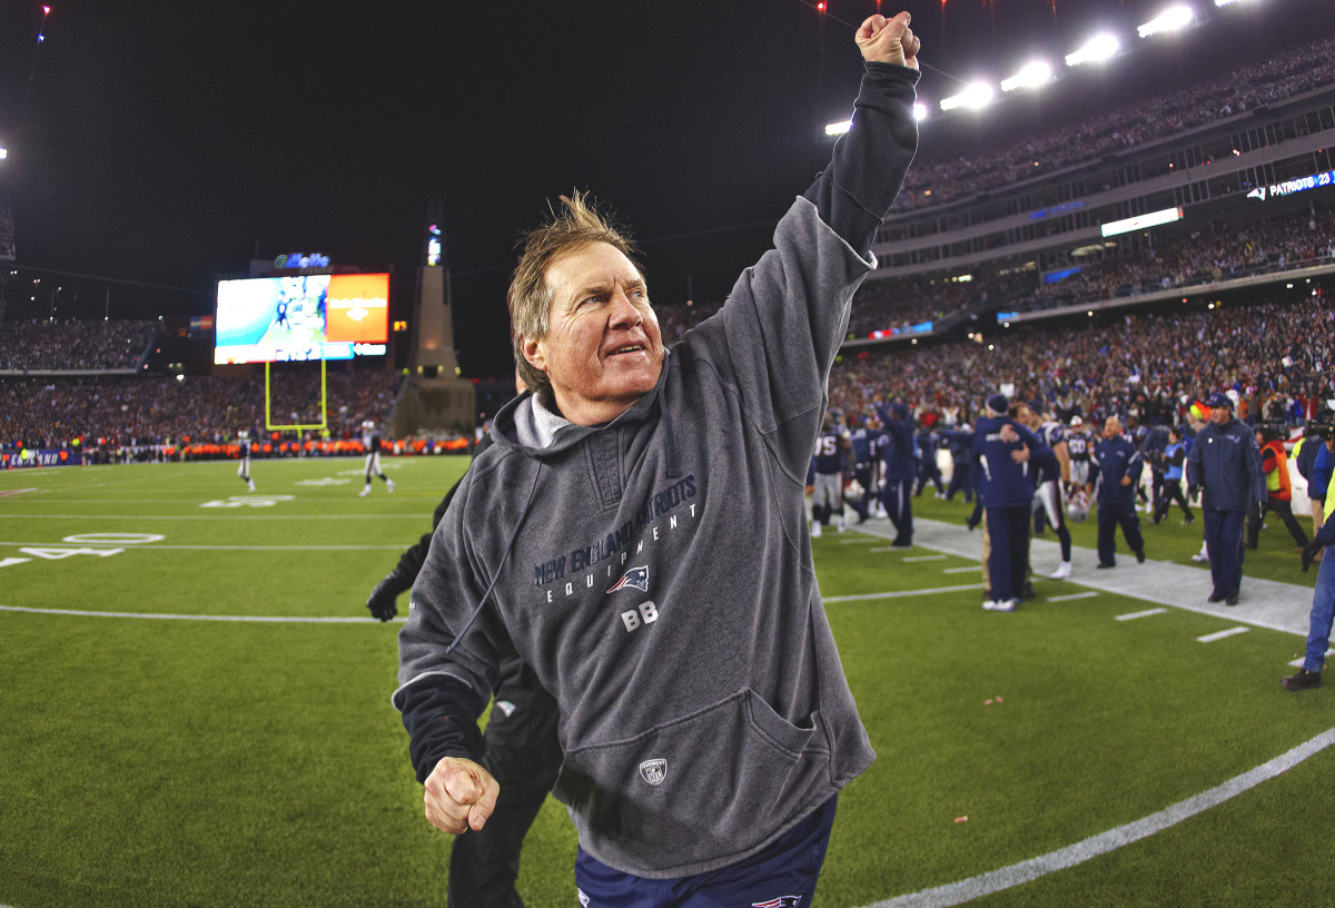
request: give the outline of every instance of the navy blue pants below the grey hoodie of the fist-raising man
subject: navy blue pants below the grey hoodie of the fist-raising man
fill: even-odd
[[[837,800],[825,801],[756,855],[696,876],[649,880],[615,871],[581,848],[575,853],[579,901],[586,908],[808,908],[825,863]]]

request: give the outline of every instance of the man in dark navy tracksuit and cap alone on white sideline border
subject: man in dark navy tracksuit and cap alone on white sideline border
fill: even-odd
[[[1187,485],[1204,489],[1206,549],[1210,553],[1211,602],[1238,605],[1243,582],[1243,525],[1247,511],[1266,499],[1260,447],[1243,422],[1234,419],[1234,402],[1215,393],[1207,401],[1210,422],[1187,454]]]

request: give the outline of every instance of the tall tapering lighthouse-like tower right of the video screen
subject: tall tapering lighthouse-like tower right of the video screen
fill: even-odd
[[[459,377],[454,353],[450,264],[445,242],[445,204],[427,204],[418,298],[413,307],[409,381],[394,414],[398,438],[418,431],[458,431],[471,437],[477,406],[473,383]]]

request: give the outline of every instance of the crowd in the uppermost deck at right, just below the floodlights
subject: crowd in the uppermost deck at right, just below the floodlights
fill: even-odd
[[[917,160],[892,211],[924,208],[1171,136],[1335,83],[1335,37],[1270,60],[1203,75],[1185,88],[1136,99],[1112,111],[1015,143],[995,136],[977,155]]]

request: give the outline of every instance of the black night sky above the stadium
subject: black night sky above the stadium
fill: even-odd
[[[1258,32],[1276,11],[1335,5],[1251,1],[1235,15]],[[902,8],[934,103],[955,77],[1011,75],[1035,49],[1059,57],[1096,24],[1163,5],[948,0],[944,33],[936,0]],[[214,282],[251,258],[323,252],[392,268],[398,306],[441,199],[461,362],[505,374],[515,242],[571,188],[630,226],[655,302],[726,294],[824,166],[822,127],[857,87],[853,27],[874,11],[52,0],[39,45],[41,4],[5,0],[0,167],[17,264],[151,284],[116,291],[113,314],[143,316],[211,312]]]

